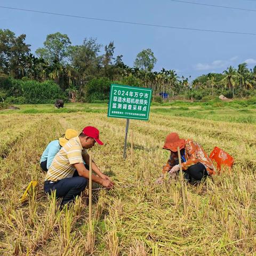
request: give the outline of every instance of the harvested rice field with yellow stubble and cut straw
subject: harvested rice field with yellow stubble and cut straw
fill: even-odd
[[[125,120],[105,112],[1,114],[0,255],[255,255],[255,124],[153,111],[148,122],[130,121],[132,166],[130,137],[123,159]],[[231,112],[225,113],[230,119]],[[111,190],[93,190],[93,233],[87,191],[60,211],[55,198],[43,193],[39,166],[50,141],[87,125],[98,127],[105,142],[93,148],[93,159],[116,183]],[[185,185],[186,214],[178,179],[155,184],[169,157],[162,146],[170,132],[196,140],[209,154],[218,146],[235,157],[231,173]],[[39,186],[21,204],[31,180]]]

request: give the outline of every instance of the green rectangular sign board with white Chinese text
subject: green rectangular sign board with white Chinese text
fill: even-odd
[[[148,120],[152,90],[111,84],[108,117]]]

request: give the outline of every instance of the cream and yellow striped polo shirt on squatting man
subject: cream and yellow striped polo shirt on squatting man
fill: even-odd
[[[85,153],[86,149],[83,149],[78,136],[69,140],[55,155],[46,173],[45,181],[58,181],[73,177],[76,170],[73,164],[84,163],[82,154]]]

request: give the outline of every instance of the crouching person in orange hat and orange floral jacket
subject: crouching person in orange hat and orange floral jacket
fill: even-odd
[[[178,133],[173,132],[167,135],[163,147],[163,149],[171,152],[169,160],[163,167],[163,174],[169,172],[173,176],[180,170],[177,147],[180,148],[182,170],[185,173],[185,178],[190,183],[201,181],[207,175],[215,173],[212,160],[207,156],[201,145],[193,140],[180,139]],[[157,179],[156,183],[161,184],[163,182],[163,174]]]

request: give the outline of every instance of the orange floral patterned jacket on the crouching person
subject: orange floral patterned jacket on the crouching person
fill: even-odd
[[[186,171],[191,165],[194,165],[198,162],[202,163],[209,175],[215,174],[214,165],[212,160],[207,156],[204,149],[197,142],[193,140],[186,140],[185,144],[185,159],[183,162],[182,170]],[[169,172],[174,165],[179,161],[178,153],[171,151],[171,156],[167,161],[166,165],[163,167],[163,173]]]

